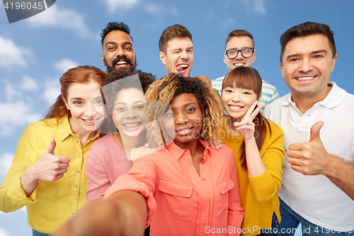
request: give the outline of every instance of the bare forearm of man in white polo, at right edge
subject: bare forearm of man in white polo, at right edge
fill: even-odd
[[[323,174],[354,200],[354,167],[352,165],[329,155],[329,165],[324,169]]]

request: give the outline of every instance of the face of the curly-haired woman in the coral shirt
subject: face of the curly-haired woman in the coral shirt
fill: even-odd
[[[196,143],[202,130],[202,110],[194,94],[179,94],[170,106],[176,135],[174,142],[178,147],[187,149],[191,142]]]

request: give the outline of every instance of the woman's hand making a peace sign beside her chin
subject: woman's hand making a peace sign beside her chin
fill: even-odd
[[[249,111],[247,111],[246,115],[242,118],[241,122],[235,122],[234,126],[239,133],[241,133],[242,136],[244,136],[244,140],[251,140],[254,138],[254,123],[253,119],[256,118],[258,115],[259,111],[261,111],[261,108],[265,106],[265,103],[261,103],[260,106],[258,106],[256,109],[254,109],[257,105],[258,101],[255,101],[252,106],[249,108]],[[259,122],[261,122],[259,120]]]

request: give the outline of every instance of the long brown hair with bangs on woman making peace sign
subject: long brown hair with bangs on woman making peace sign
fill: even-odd
[[[224,82],[222,82],[222,89],[228,86],[233,88],[251,89],[257,94],[257,99],[259,99],[261,96],[262,79],[257,70],[252,67],[236,67],[225,76]],[[256,108],[257,106],[255,109]],[[255,139],[258,150],[261,150],[265,139],[265,133],[267,132],[267,125],[271,133],[270,124],[268,120],[261,115],[261,113],[258,113],[254,120],[258,120],[258,122],[254,122],[254,133],[257,134]],[[241,167],[243,169],[247,169],[246,146],[244,141],[240,147],[240,161]]]

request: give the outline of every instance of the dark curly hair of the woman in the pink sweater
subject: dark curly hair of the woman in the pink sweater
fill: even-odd
[[[134,79],[134,76],[139,77],[139,82]],[[127,77],[132,77],[131,79]],[[138,70],[137,72],[127,72],[125,70],[119,70],[107,74],[105,77],[105,84],[101,88],[101,94],[103,97],[103,103],[105,104],[105,113],[107,114],[105,122],[101,127],[101,133],[113,133],[117,131],[112,119],[113,106],[115,104],[115,97],[122,89],[135,88],[144,92],[147,91],[149,85],[154,82],[156,77],[147,72]]]

